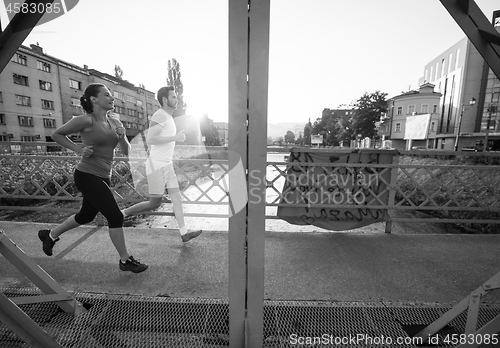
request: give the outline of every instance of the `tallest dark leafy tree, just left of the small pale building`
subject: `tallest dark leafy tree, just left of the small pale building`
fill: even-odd
[[[375,93],[365,93],[356,101],[353,130],[354,134],[361,134],[362,138],[374,138],[377,134],[375,126],[380,121],[382,114],[387,112],[387,93],[376,91]]]

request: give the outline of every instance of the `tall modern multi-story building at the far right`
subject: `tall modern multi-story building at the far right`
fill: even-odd
[[[500,22],[494,23],[500,32]],[[470,40],[463,38],[429,62],[419,82],[434,84],[442,94],[434,148],[478,149],[488,138],[488,148],[500,150],[500,80]]]

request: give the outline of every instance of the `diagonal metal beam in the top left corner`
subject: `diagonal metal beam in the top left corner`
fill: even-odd
[[[28,4],[51,4],[54,0],[26,0]],[[46,8],[45,6],[35,6],[34,8]],[[7,28],[1,31],[0,28],[0,72],[7,66],[10,59],[16,53],[19,46],[28,37],[29,33],[43,17],[44,12],[27,13],[19,12],[10,21]]]

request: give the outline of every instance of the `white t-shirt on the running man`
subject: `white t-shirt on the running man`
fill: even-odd
[[[174,119],[165,110],[158,109],[151,117],[151,121],[158,123],[152,125],[151,127],[161,127],[160,136],[173,137],[177,134],[177,127],[175,126]],[[160,145],[151,145],[149,157],[153,161],[172,162],[174,147],[175,141],[170,141]]]

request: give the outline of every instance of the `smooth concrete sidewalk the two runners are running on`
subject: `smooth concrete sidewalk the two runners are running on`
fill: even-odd
[[[182,243],[177,231],[125,228],[129,252],[150,268],[121,272],[107,227],[65,233],[54,256],[37,231],[47,224],[0,221],[0,229],[66,290],[227,298],[228,233]],[[266,232],[265,299],[455,304],[500,272],[500,235]],[[0,287],[32,284],[0,255]],[[500,304],[492,293],[488,303]]]

